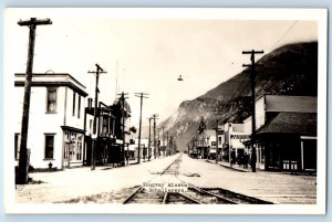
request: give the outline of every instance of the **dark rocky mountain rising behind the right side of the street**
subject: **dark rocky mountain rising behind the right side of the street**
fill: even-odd
[[[266,54],[257,64],[256,95],[318,95],[318,42],[283,45]],[[249,68],[235,75],[206,94],[183,102],[177,112],[159,126],[165,126],[177,137],[177,147],[186,149],[186,144],[197,135],[201,117],[207,128],[219,123],[241,123],[250,116]]]

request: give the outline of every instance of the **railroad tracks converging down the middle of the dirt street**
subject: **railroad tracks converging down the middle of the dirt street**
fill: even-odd
[[[162,181],[173,178],[180,181],[184,187],[178,191],[165,189],[163,183],[152,183],[153,178],[145,184],[155,184],[149,190],[141,186],[123,201],[128,203],[149,203],[149,204],[271,204],[257,198],[243,195],[221,188],[198,188],[177,178],[181,155],[167,166],[158,176]],[[165,178],[165,180],[163,179]]]

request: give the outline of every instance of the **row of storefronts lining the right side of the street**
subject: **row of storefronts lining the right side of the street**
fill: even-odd
[[[253,146],[258,169],[317,170],[317,97],[259,97],[256,101],[256,129]],[[220,139],[216,142],[215,138]],[[250,162],[252,157],[250,139],[251,117],[240,124],[219,125],[217,131],[205,130],[189,142],[188,152],[194,158],[217,158],[241,165],[246,158]],[[214,152],[216,155],[210,155]]]

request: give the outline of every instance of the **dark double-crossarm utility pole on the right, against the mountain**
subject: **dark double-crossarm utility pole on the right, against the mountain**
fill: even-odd
[[[255,54],[262,54],[263,51],[242,51],[242,54],[250,54],[251,64],[243,64],[243,67],[250,67],[250,80],[251,80],[251,108],[252,108],[252,116],[251,116],[251,160],[250,166],[252,172],[256,172],[256,162],[257,162],[257,155],[256,155],[256,97],[255,97],[255,87],[256,87],[256,66],[261,66],[259,64],[255,64]]]

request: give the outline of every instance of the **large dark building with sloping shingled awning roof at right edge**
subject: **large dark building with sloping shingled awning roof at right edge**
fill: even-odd
[[[256,119],[258,168],[317,170],[317,97],[262,96],[256,102]],[[250,139],[243,144],[251,150]]]

